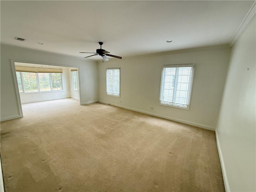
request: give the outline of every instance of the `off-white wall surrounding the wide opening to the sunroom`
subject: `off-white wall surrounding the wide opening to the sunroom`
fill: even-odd
[[[1,121],[20,116],[10,60],[78,66],[81,82],[81,103],[86,104],[98,100],[98,65],[96,62],[1,44]]]

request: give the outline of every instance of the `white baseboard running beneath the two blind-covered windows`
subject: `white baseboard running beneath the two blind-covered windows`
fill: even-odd
[[[108,104],[108,102],[104,102],[104,101],[99,101],[99,102]],[[109,103],[109,104],[113,105],[113,106],[129,109],[129,110],[132,110],[132,111],[141,112],[141,113],[144,113],[144,114],[148,114],[148,115],[152,115],[152,116],[156,116],[156,117],[160,117],[160,118],[164,118],[164,119],[168,119],[168,120],[172,120],[172,121],[176,121],[176,122],[180,122],[180,123],[184,123],[184,124],[188,124],[188,125],[208,129],[208,130],[212,130],[212,131],[215,130],[215,127],[204,125],[204,124],[199,124],[199,123],[196,123],[196,122],[190,122],[190,121],[183,120],[183,119],[178,119],[178,118],[168,117],[168,116],[164,116],[164,115],[159,115],[159,114],[156,114],[156,113],[151,113],[151,112],[147,112],[147,111],[144,111],[144,110],[139,110],[139,109],[126,107],[126,106],[122,106],[122,105],[117,105],[117,104],[112,104],[112,103]]]

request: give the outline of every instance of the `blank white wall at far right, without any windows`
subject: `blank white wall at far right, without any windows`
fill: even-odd
[[[226,188],[232,192],[256,191],[255,23],[232,47],[216,129]]]

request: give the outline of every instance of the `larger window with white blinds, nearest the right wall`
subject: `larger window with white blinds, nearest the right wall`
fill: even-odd
[[[194,64],[164,66],[160,104],[189,109],[193,75]]]

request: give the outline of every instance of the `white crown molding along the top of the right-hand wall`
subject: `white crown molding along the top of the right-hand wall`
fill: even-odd
[[[254,1],[254,3],[252,4],[252,6],[251,6],[250,10],[248,11],[248,13],[246,14],[244,20],[242,21],[242,23],[240,24],[240,26],[236,30],[236,33],[232,37],[232,39],[230,41],[230,46],[231,47],[237,42],[237,40],[240,38],[240,36],[242,36],[244,31],[251,24],[252,20],[254,20],[254,18],[256,16],[256,6],[255,5],[256,5],[256,1]]]

